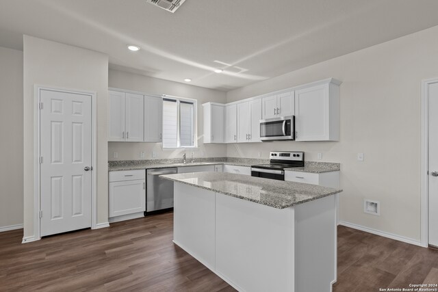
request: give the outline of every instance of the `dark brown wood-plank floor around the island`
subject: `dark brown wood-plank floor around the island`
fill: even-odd
[[[172,243],[172,219],[154,215],[26,244],[23,230],[0,233],[0,291],[235,291]],[[438,283],[437,250],[339,226],[333,291],[422,283]]]

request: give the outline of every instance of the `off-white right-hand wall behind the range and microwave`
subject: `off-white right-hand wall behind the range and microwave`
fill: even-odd
[[[227,101],[329,77],[341,80],[339,142],[231,144],[230,157],[304,150],[340,162],[340,219],[420,241],[421,81],[438,77],[438,27],[228,92]],[[356,161],[363,152],[365,161]],[[363,213],[380,200],[381,216]]]

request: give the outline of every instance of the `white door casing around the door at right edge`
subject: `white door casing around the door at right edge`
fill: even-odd
[[[438,78],[425,79],[422,81],[422,136],[421,136],[421,165],[420,165],[420,222],[421,243],[428,246],[428,86],[437,83]]]

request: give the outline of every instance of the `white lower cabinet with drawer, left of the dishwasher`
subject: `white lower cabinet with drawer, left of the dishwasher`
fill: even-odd
[[[145,170],[110,172],[109,187],[109,217],[146,211]]]

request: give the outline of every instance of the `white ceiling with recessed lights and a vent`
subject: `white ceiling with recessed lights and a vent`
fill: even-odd
[[[146,0],[0,1],[0,47],[23,49],[27,34],[224,91],[438,25],[436,0],[186,0],[175,14]]]

